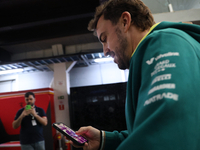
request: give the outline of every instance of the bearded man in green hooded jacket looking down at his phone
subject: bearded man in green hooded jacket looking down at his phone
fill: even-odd
[[[96,9],[88,29],[96,33],[105,56],[129,69],[127,130],[81,127],[76,133],[88,140],[83,149],[198,150],[200,27],[155,24],[142,1],[109,0]]]

